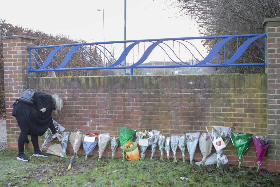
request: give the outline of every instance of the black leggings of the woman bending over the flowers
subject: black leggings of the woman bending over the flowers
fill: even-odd
[[[34,147],[34,151],[40,151],[39,143],[38,143],[38,135],[34,135],[30,133],[29,126],[25,120],[24,116],[16,115],[15,118],[17,119],[18,126],[20,127],[20,136],[18,137],[18,153],[24,154],[24,144],[27,139],[27,135],[30,135],[31,142]]]

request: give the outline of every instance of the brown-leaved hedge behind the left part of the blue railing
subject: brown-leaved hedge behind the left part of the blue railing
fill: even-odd
[[[35,46],[45,46],[45,45],[58,45],[58,44],[74,44],[74,43],[86,43],[86,41],[80,39],[80,40],[73,40],[70,39],[69,36],[66,35],[52,35],[52,34],[46,34],[39,30],[32,30],[28,28],[23,28],[22,26],[13,25],[10,23],[7,23],[6,20],[0,19],[0,36],[12,36],[12,35],[26,35],[26,36],[33,36],[36,37],[37,40],[35,40]],[[3,43],[0,40],[0,51],[2,49]],[[87,46],[84,46],[85,49],[88,49]],[[51,52],[51,48],[46,49],[38,49],[36,52],[39,54],[41,59],[44,61],[48,54]],[[67,49],[68,51],[70,49]],[[93,51],[94,53],[94,51]],[[85,54],[86,55],[86,54]],[[3,53],[1,52],[1,59],[3,59]],[[86,57],[89,56],[86,55]],[[94,57],[95,58],[95,55]],[[56,61],[56,56],[53,59]],[[100,56],[99,54],[96,55],[96,59],[98,64],[100,64]],[[37,61],[39,59],[37,58]],[[1,61],[0,61],[1,62]],[[2,65],[1,65],[2,64]],[[93,65],[98,66],[98,64],[93,63]],[[3,62],[0,63],[0,67],[3,66]],[[68,64],[65,66],[65,68],[77,68],[77,67],[91,67],[90,64],[86,63],[86,60],[84,56],[76,51]],[[46,77],[48,72],[36,72],[36,77]],[[55,74],[57,77],[63,77],[63,76],[100,76],[101,70],[75,70],[75,71],[55,71]]]

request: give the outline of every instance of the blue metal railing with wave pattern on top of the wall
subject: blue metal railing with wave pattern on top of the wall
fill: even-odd
[[[51,46],[29,47],[30,68],[28,72],[92,70],[92,69],[130,69],[134,68],[182,68],[182,67],[215,67],[215,66],[265,66],[265,36],[266,34],[224,35],[211,37],[185,37],[150,40],[126,40],[114,42],[93,42],[80,44],[64,44]],[[215,40],[217,43],[205,57],[192,44],[192,40]],[[126,49],[119,56],[112,54],[107,46],[126,43]],[[106,45],[106,47],[105,47]],[[234,63],[250,45],[256,45],[263,54],[259,63]],[[50,49],[48,49],[50,48]],[[48,56],[43,61],[40,52],[48,49]],[[227,50],[226,50],[227,49]],[[146,66],[148,57],[159,55],[159,51],[167,56],[173,65]],[[160,52],[160,53],[161,53]],[[226,55],[228,53],[228,55]],[[230,55],[229,55],[230,53]],[[88,67],[67,67],[67,63],[75,55],[81,56]],[[141,57],[140,57],[141,56]],[[226,57],[227,56],[227,57]],[[35,63],[34,63],[35,61]],[[32,63],[33,62],[33,63]]]

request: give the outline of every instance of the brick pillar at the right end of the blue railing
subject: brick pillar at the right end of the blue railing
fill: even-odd
[[[280,17],[265,19],[267,32],[267,170],[280,171]]]

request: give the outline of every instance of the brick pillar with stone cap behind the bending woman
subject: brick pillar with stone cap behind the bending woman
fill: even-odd
[[[4,54],[4,82],[6,101],[6,126],[8,148],[18,149],[20,128],[12,116],[13,102],[26,89],[26,78],[35,77],[28,73],[29,52],[27,45],[34,46],[37,38],[23,35],[1,37]]]

